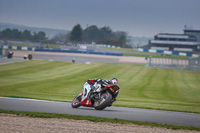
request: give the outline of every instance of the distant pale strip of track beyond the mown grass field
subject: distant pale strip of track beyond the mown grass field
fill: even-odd
[[[144,57],[134,56],[108,56],[108,55],[95,55],[95,54],[77,54],[77,53],[57,53],[57,52],[34,52],[34,51],[14,51],[14,59],[22,59],[24,55],[32,54],[33,59],[50,60],[50,61],[63,61],[78,63],[87,62],[110,62],[110,63],[140,63],[145,64]]]

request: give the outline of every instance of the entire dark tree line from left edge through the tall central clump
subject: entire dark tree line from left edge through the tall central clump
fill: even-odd
[[[31,42],[51,42],[58,41],[78,43],[96,43],[96,44],[110,44],[120,47],[127,47],[128,34],[124,31],[114,32],[108,26],[97,27],[91,25],[83,29],[80,24],[75,25],[71,32],[68,34],[57,34],[51,40],[47,40],[46,33],[40,31],[38,33],[31,32],[30,30],[19,31],[18,29],[7,28],[0,31],[0,39],[13,39],[13,40],[28,40]]]

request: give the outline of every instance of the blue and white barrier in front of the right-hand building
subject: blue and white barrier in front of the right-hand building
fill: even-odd
[[[141,51],[141,52],[149,52],[149,53],[180,55],[180,56],[188,56],[188,57],[200,57],[200,55],[198,55],[198,54],[182,53],[182,52],[176,52],[176,51],[164,51],[164,50],[143,49],[143,48],[138,48],[137,50]]]

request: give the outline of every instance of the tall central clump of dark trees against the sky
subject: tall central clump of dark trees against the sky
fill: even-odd
[[[67,34],[67,39],[73,43],[92,43],[110,44],[120,47],[126,47],[127,33],[124,31],[114,32],[110,27],[98,28],[91,25],[82,29],[80,24],[73,27],[72,31]]]

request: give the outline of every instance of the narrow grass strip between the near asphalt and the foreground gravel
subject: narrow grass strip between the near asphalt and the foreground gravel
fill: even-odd
[[[39,117],[39,118],[65,118],[65,119],[75,119],[75,120],[89,120],[92,122],[109,122],[109,123],[120,123],[120,124],[136,124],[136,125],[145,125],[150,127],[162,127],[168,129],[184,129],[184,130],[196,130],[200,131],[198,127],[188,127],[188,126],[176,126],[176,125],[166,125],[166,124],[157,124],[149,122],[138,122],[130,120],[121,120],[121,119],[112,119],[112,118],[101,118],[94,116],[80,116],[80,115],[69,115],[69,114],[55,114],[55,113],[38,113],[38,112],[25,112],[25,111],[7,111],[0,110],[0,113],[7,114],[16,114],[20,116],[29,116],[29,117]]]

